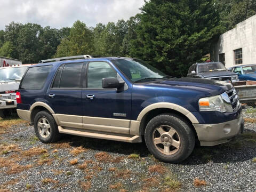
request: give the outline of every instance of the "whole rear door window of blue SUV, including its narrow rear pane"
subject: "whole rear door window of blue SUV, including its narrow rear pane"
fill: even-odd
[[[61,66],[53,82],[53,88],[81,88],[83,63],[67,63]]]

